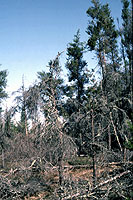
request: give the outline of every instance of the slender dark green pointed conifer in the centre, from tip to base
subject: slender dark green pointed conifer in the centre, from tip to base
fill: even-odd
[[[86,84],[89,82],[87,62],[84,60],[85,47],[80,41],[78,30],[74,39],[67,47],[68,85],[65,88],[67,101],[64,104],[67,122],[65,131],[74,138],[78,146],[78,153],[81,154],[83,133],[80,120],[83,117],[83,104],[86,99]]]

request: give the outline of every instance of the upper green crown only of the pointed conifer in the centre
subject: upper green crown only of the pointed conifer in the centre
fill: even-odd
[[[78,30],[73,42],[69,43],[67,48],[66,68],[69,70],[68,81],[71,83],[71,86],[68,86],[68,96],[76,96],[79,103],[83,101],[85,84],[88,83],[87,73],[85,73],[87,62],[83,59],[84,50]]]

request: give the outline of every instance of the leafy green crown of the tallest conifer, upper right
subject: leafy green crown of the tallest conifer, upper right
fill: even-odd
[[[93,6],[87,10],[89,17],[86,31],[89,37],[87,46],[97,55],[104,82],[108,71],[116,72],[119,69],[118,31],[111,17],[109,5],[101,5],[99,0],[92,0],[92,3]]]

